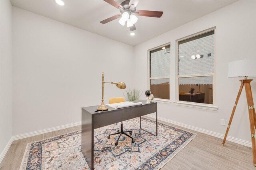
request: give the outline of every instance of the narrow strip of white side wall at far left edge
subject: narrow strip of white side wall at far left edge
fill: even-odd
[[[0,153],[12,137],[12,5],[0,0]]]

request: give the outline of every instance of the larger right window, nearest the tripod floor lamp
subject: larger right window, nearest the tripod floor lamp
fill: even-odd
[[[178,42],[179,100],[213,104],[214,30]]]

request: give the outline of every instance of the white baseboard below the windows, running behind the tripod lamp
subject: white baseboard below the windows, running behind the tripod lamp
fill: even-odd
[[[146,116],[151,117],[151,118],[154,118],[154,119],[156,118],[155,115],[146,115]],[[207,134],[207,135],[211,135],[211,136],[214,136],[214,137],[218,137],[218,138],[221,138],[221,139],[224,138],[224,135],[221,134],[221,133],[216,133],[216,132],[208,131],[208,130],[201,129],[201,128],[198,128],[198,127],[186,125],[186,124],[184,124],[184,123],[179,123],[179,122],[177,122],[177,121],[172,121],[172,120],[170,120],[170,119],[166,119],[166,118],[159,117],[159,116],[158,116],[157,118],[158,118],[158,120],[160,120],[160,121],[165,121],[165,122],[167,122],[167,123],[172,123],[172,124],[174,124],[174,125],[178,125],[178,126],[181,126],[181,127],[185,127],[185,128],[188,128],[188,129],[191,129],[191,130],[194,130],[194,131],[198,131],[198,132],[201,132],[201,133],[204,133],[204,134]],[[242,140],[242,139],[238,139],[238,138],[234,138],[234,137],[228,136],[226,140],[227,140],[227,141],[230,141],[230,142],[238,143],[238,144],[240,144],[240,145],[244,145],[244,146],[246,146],[246,147],[250,147],[250,148],[252,147],[252,143],[251,143],[251,142],[249,142],[249,141],[244,141],[244,140]]]

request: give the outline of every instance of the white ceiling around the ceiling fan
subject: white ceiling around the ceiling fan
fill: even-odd
[[[119,4],[122,1],[116,0]],[[235,1],[140,0],[136,10],[163,11],[164,14],[161,18],[138,16],[134,36],[130,35],[126,26],[118,23],[118,19],[106,24],[100,23],[120,14],[117,8],[103,0],[64,0],[65,6],[59,6],[53,0],[11,0],[11,3],[18,8],[135,46]]]

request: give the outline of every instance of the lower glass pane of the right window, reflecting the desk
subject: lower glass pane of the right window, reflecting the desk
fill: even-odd
[[[212,104],[212,76],[179,78],[179,100]]]

